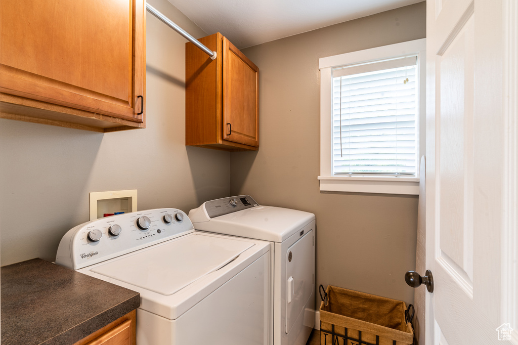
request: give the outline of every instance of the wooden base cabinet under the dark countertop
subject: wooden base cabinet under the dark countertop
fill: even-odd
[[[133,310],[74,345],[136,345],[135,315]]]

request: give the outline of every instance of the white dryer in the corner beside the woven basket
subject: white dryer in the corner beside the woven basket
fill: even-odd
[[[208,201],[189,218],[196,230],[270,242],[273,342],[305,345],[315,320],[314,214],[240,195]]]

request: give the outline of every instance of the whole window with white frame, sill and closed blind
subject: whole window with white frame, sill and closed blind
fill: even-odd
[[[419,194],[425,60],[425,38],[319,59],[321,191]]]

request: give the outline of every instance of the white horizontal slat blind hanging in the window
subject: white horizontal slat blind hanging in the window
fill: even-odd
[[[333,174],[416,176],[417,56],[333,68]]]

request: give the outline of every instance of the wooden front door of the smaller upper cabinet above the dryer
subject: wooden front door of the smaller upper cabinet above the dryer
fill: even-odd
[[[223,37],[223,139],[259,146],[257,66]]]

